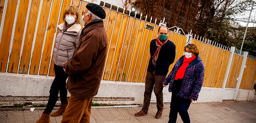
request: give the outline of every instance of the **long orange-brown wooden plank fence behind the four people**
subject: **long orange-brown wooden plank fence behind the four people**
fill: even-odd
[[[58,34],[57,26],[63,23],[63,10],[72,5],[82,15],[86,4],[88,2],[82,0],[1,0],[0,72],[54,76],[53,48]],[[108,53],[102,79],[145,82],[150,41],[157,37],[159,25],[106,7],[104,10]],[[146,25],[154,29],[145,28]],[[194,43],[200,50],[199,56],[205,66],[203,86],[221,88],[226,84],[226,88],[236,88],[244,56],[234,53],[230,61],[230,47],[201,37],[192,38],[191,33],[182,34],[180,30],[177,27],[174,31],[168,31],[169,40],[176,46],[175,62],[183,56],[186,43]],[[171,64],[169,72],[175,62]],[[255,57],[248,56],[240,89],[253,88],[255,64]]]

